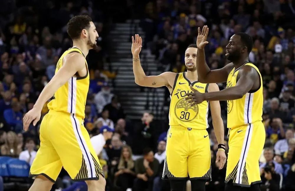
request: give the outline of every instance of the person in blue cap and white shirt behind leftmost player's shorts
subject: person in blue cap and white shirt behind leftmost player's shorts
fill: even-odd
[[[93,145],[96,155],[104,148],[106,141],[111,139],[114,133],[114,129],[109,128],[109,126],[102,126],[99,130],[99,134],[91,137],[90,142]]]

